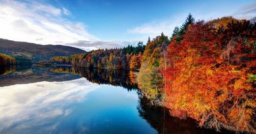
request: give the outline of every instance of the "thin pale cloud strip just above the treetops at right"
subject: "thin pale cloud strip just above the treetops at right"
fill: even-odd
[[[185,21],[188,13],[178,13],[174,17],[172,17],[172,20],[159,20],[155,22],[147,22],[145,24],[142,24],[138,27],[133,27],[131,29],[127,30],[127,33],[129,34],[141,34],[145,35],[145,38],[147,36],[155,37],[161,34],[163,32],[164,34],[167,34],[170,36],[173,32],[173,29],[176,26],[181,26],[183,22]],[[230,12],[228,11],[212,11],[212,12],[202,12],[202,11],[194,11],[192,15],[195,17],[196,20],[212,20],[217,19],[218,17],[224,17],[232,15],[233,17],[236,17],[237,19],[252,19],[256,16],[256,3],[247,4],[246,6],[241,6],[238,10],[236,9],[230,9]]]

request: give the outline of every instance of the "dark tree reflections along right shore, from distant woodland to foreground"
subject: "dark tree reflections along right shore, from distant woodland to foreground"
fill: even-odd
[[[139,103],[137,109],[140,117],[145,119],[158,133],[234,133],[227,130],[217,132],[215,130],[200,128],[194,119],[172,117],[168,113],[167,108],[152,105],[152,101],[143,96],[138,89],[138,84],[134,77],[137,73],[136,71],[74,68],[70,66],[60,66],[51,70],[59,73],[79,74],[86,78],[86,80],[97,84],[120,86],[128,91],[138,90]]]

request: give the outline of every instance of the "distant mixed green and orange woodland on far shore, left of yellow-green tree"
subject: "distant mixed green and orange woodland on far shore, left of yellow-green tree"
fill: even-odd
[[[140,69],[141,54],[143,54],[144,50],[145,45],[139,42],[136,47],[128,45],[128,47],[124,48],[99,49],[86,54],[52,57],[51,60],[58,64],[72,64],[86,68],[132,68],[133,70],[138,70]]]

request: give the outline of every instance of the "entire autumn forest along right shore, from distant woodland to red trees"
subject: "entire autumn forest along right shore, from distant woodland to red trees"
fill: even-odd
[[[223,17],[195,21],[188,15],[172,36],[147,45],[99,49],[52,57],[58,64],[140,70],[134,83],[170,115],[195,119],[221,131],[256,133],[256,23]],[[135,76],[133,76],[135,77]]]

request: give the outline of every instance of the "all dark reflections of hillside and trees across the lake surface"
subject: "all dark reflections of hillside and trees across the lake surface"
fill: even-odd
[[[120,86],[127,89],[127,91],[137,90],[139,95],[137,106],[139,115],[152,128],[157,130],[157,133],[220,133],[198,127],[198,124],[193,119],[172,117],[166,108],[152,105],[151,101],[140,93],[134,77],[137,72],[134,71],[74,68],[72,66],[55,66],[51,68],[32,66],[28,68],[8,68],[1,71],[1,73],[1,87],[41,81],[61,82],[84,77],[86,80],[97,84]],[[223,130],[221,133],[232,132]]]

